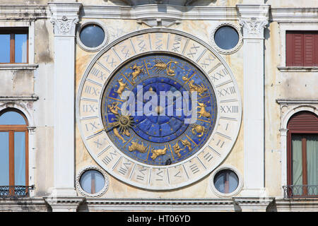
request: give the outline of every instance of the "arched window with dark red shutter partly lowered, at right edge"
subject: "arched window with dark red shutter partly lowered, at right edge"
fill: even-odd
[[[298,112],[287,129],[288,196],[318,196],[318,117]]]

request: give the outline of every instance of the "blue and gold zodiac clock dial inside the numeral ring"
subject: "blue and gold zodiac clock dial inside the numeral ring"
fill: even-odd
[[[134,98],[124,98],[124,91]],[[191,99],[194,91],[196,102]],[[162,94],[168,92],[175,96],[162,102]],[[122,105],[131,101],[126,109],[134,112],[124,114]],[[197,119],[187,124],[192,108],[197,109]],[[208,78],[172,54],[148,54],[126,62],[102,95],[102,120],[110,140],[124,155],[147,165],[173,165],[194,155],[211,136],[216,114],[216,95]]]

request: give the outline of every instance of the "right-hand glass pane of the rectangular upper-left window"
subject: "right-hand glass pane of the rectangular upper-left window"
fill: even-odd
[[[26,34],[16,34],[15,35],[15,43],[14,43],[14,61],[16,63],[27,63],[27,42],[28,41],[28,35]]]

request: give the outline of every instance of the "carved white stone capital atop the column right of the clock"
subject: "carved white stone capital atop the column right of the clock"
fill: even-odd
[[[269,23],[269,5],[237,4],[243,38],[264,39],[264,28]]]

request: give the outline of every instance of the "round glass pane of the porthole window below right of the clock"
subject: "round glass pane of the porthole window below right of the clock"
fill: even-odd
[[[218,191],[224,194],[232,193],[237,189],[239,179],[230,169],[222,169],[216,173],[213,184]]]

